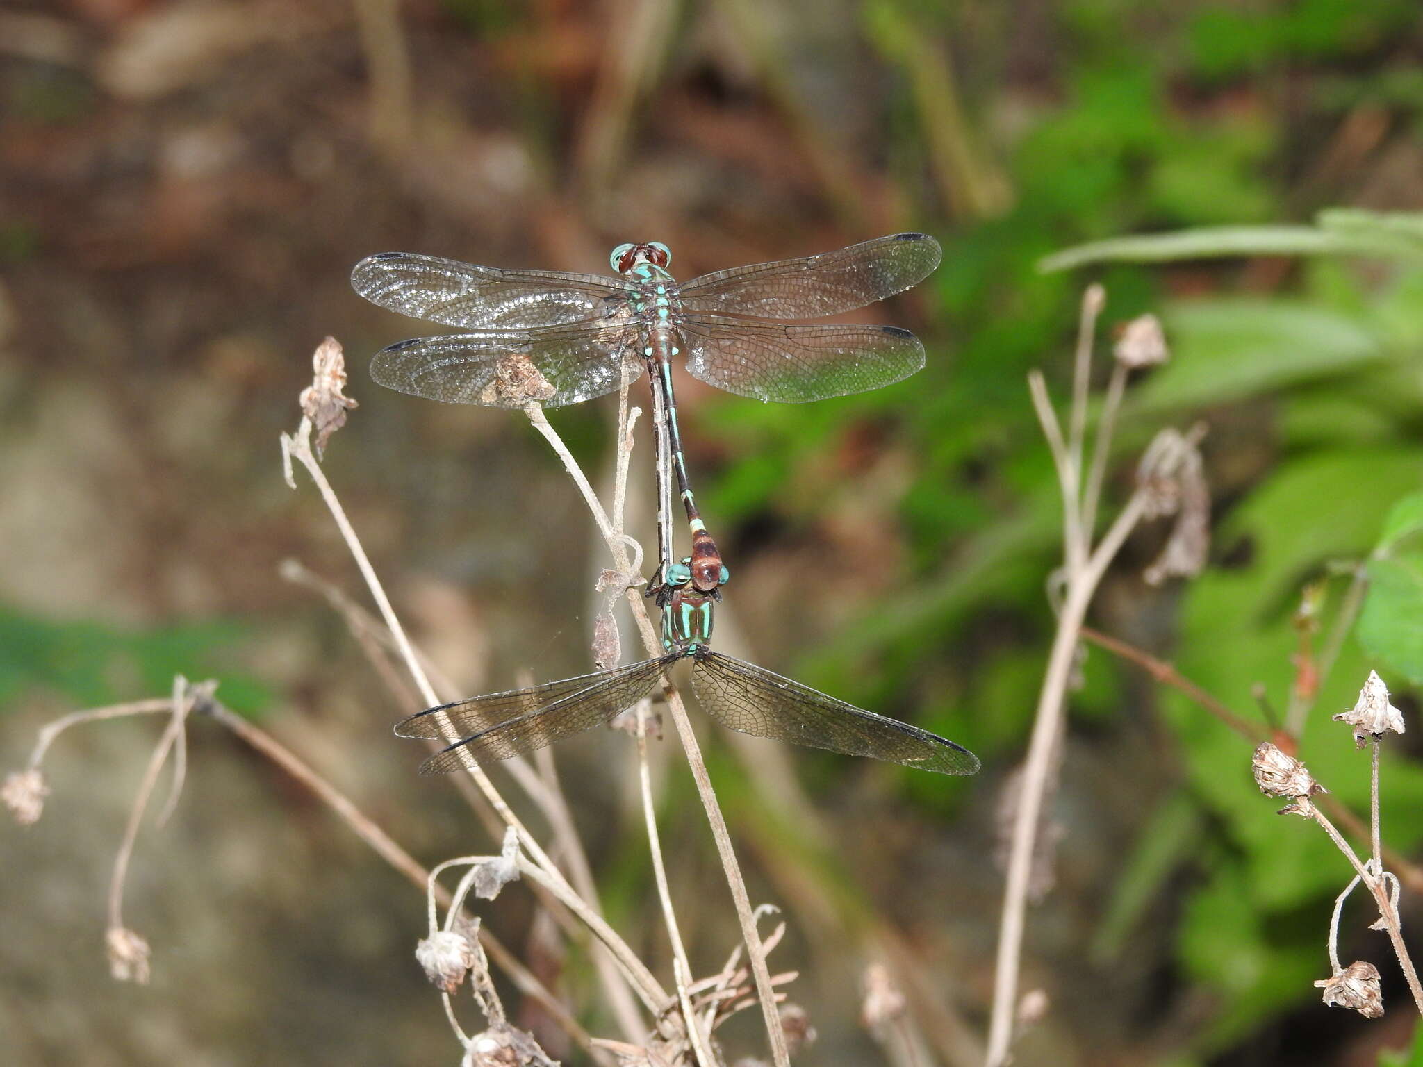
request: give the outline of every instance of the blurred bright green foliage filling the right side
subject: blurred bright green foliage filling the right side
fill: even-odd
[[[1328,716],[1353,703],[1369,669],[1395,689],[1423,677],[1423,555],[1413,526],[1400,532],[1417,514],[1413,494],[1423,487],[1423,216],[1336,209],[1312,226],[1269,225],[1291,212],[1281,159],[1298,147],[1282,142],[1259,98],[1276,92],[1288,74],[1312,87],[1301,105],[1316,118],[1338,121],[1342,108],[1368,104],[1416,125],[1423,112],[1416,78],[1402,71],[1373,77],[1350,64],[1410,27],[1417,9],[1396,0],[1197,4],[1174,23],[1154,24],[1150,47],[1124,50],[1121,23],[1137,10],[1101,0],[1064,6],[1073,40],[1064,47],[1072,58],[1063,102],[1037,112],[1012,154],[1016,206],[961,222],[926,283],[935,314],[929,381],[793,417],[721,403],[704,420],[723,431],[730,462],[709,511],[746,518],[770,509],[793,526],[813,522],[824,497],[794,488],[801,472],[857,421],[899,413],[895,432],[916,460],[904,504],[912,592],[807,652],[795,673],[851,700],[891,707],[894,683],[884,679],[898,676],[921,701],[918,721],[989,758],[1017,751],[1040,677],[1037,650],[1052,625],[1042,583],[1060,552],[1057,491],[1025,373],[1033,366],[1050,376],[1064,371],[1086,282],[1033,267],[1064,245],[1099,239],[1047,265],[1093,266],[1109,290],[1109,322],[1161,313],[1175,354],[1133,390],[1123,460],[1164,423],[1185,425],[1201,414],[1229,421],[1245,411],[1264,420],[1261,437],[1274,451],[1228,501],[1217,566],[1181,592],[1177,663],[1247,717],[1258,718],[1251,697],[1258,683],[1284,707],[1295,680],[1294,616],[1303,588],[1325,583],[1318,623],[1328,635],[1352,622],[1352,615],[1339,622],[1350,610],[1349,575],[1366,566],[1370,585],[1358,630],[1343,643],[1301,740],[1316,777],[1366,809],[1368,757]],[[1311,81],[1302,80],[1302,64]],[[1181,104],[1221,87],[1237,92],[1235,107]],[[1143,230],[1168,232],[1117,236]],[[1229,293],[1238,273],[1227,260],[1255,255],[1313,259],[1289,270],[1288,294],[1248,297],[1173,299],[1160,272],[1138,266],[1211,260],[1211,289]],[[1348,256],[1387,269],[1360,270]],[[965,643],[989,605],[996,613],[1016,607],[1042,640],[1032,650],[986,654],[973,644],[972,664],[945,676],[936,666],[953,657],[945,650]],[[1094,657],[1089,674],[1110,680],[1103,660]],[[1089,693],[1080,703],[1096,701]],[[1316,828],[1281,819],[1278,805],[1259,795],[1247,773],[1248,744],[1184,699],[1165,694],[1163,703],[1181,747],[1184,791],[1168,792],[1143,822],[1097,953],[1109,959],[1130,943],[1146,902],[1174,872],[1192,871],[1178,962],[1228,1003],[1197,1036],[1195,1053],[1208,1056],[1305,999],[1311,980],[1325,976],[1321,930],[1349,869]],[[904,778],[906,788],[919,785]],[[1423,770],[1387,760],[1385,794],[1386,837],[1402,849],[1416,845],[1423,825],[1409,812],[1423,802]],[[1298,920],[1303,915],[1308,920]]]

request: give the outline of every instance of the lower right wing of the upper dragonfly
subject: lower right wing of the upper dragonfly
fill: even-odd
[[[794,326],[724,316],[680,323],[687,371],[727,393],[781,404],[865,393],[924,366],[919,339],[898,326]]]

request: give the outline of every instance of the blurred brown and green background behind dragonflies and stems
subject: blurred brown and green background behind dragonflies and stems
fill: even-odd
[[[1420,206],[1420,40],[1413,4],[1322,0],[4,4],[6,764],[54,714],[162,696],[175,671],[213,676],[423,861],[488,851],[447,782],[414,775],[420,753],[390,736],[401,708],[340,619],[277,575],[296,558],[366,602],[313,488],[280,478],[277,434],[296,424],[314,346],[346,346],[360,401],[326,471],[413,635],[468,693],[589,667],[605,553],[521,415],[371,384],[370,353],[438,330],[354,296],[351,265],[414,250],[605,272],[613,245],[656,239],[692,277],[922,229],[943,267],[862,313],[921,334],[922,374],[804,408],[686,377],[679,391],[733,573],[720,647],[985,758],[979,778],[942,781],[699,723],[751,896],[790,922],[773,967],[801,972],[791,997],[820,1031],[800,1061],[882,1061],[858,1013],[865,966],[887,957],[924,979],[916,1026],[948,1061],[986,1014],[996,787],[1020,755],[1052,626],[1057,519],[1022,383],[1032,366],[1063,380],[1084,279],[1036,262],[1136,229]],[[1278,260],[1099,276],[1109,322],[1308,285]],[[1177,405],[1214,408],[1225,514],[1298,445],[1274,421],[1298,410],[1295,387]],[[1126,425],[1127,442],[1168,407]],[[552,417],[605,482],[612,415],[598,401]],[[1412,415],[1387,423],[1400,441],[1416,430]],[[643,437],[630,508],[645,545],[649,457]],[[1158,534],[1128,546],[1097,622],[1171,653],[1180,592],[1137,576],[1158,548]],[[1052,1010],[1020,1061],[1369,1063],[1380,1040],[1406,1040],[1405,1019],[1365,1034],[1308,983],[1234,1012],[1221,975],[1238,960],[1192,959],[1181,932],[1211,876],[1198,864],[1220,855],[1201,837],[1116,949],[1089,956],[1123,856],[1183,774],[1171,755],[1164,771],[1141,765],[1174,744],[1147,683],[1097,666],[1063,771],[1056,889],[1030,913],[1025,984],[1047,989]],[[110,982],[105,879],[155,736],[157,720],[65,736],[44,821],[3,831],[0,1060],[455,1061],[411,959],[420,896],[201,724],[178,812],[145,829],[129,878],[152,984]],[[556,755],[609,918],[666,975],[626,738],[579,737]],[[680,754],[663,744],[656,758],[673,896],[707,972],[736,943],[734,916]],[[1210,838],[1214,818],[1192,825]],[[1309,905],[1248,936],[1308,946],[1292,959],[1322,976],[1326,911]],[[586,955],[551,945],[525,893],[485,915],[612,1034]],[[729,1029],[733,1053],[760,1049],[754,1016]],[[579,1061],[536,1013],[519,1021]]]

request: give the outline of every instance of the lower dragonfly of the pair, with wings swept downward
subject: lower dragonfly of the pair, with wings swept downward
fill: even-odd
[[[421,711],[396,726],[398,737],[451,741],[421,774],[462,770],[468,757],[507,760],[610,721],[656,689],[680,660],[716,721],[777,741],[865,755],[939,774],[973,774],[978,757],[928,730],[865,711],[754,663],[713,652],[714,590],[672,590],[662,612],[665,654],[562,681],[491,693]]]

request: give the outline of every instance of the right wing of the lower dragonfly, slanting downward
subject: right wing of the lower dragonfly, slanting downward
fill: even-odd
[[[939,774],[973,774],[968,748],[885,718],[719,652],[696,654],[692,687],[721,726],[754,737],[902,763]]]

